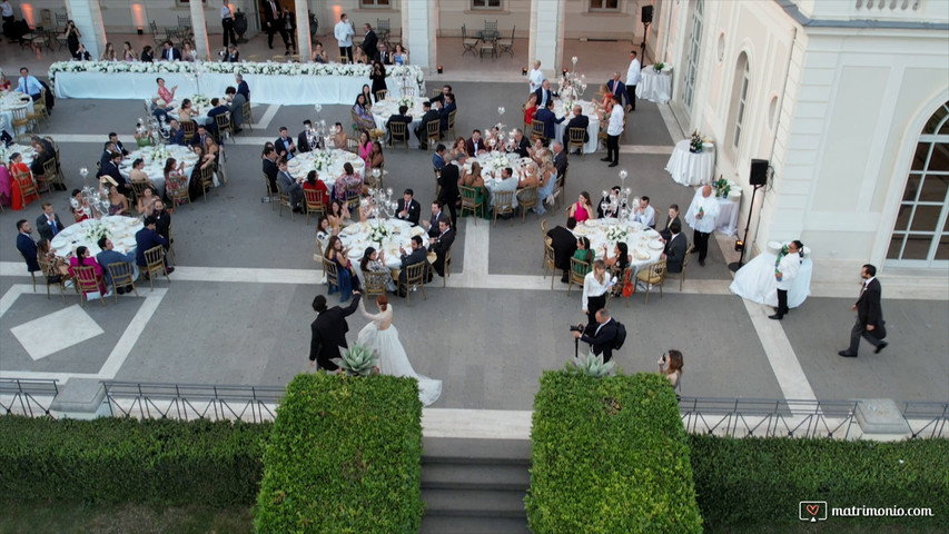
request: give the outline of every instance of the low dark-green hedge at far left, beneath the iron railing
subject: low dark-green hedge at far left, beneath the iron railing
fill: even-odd
[[[0,417],[0,494],[16,500],[250,505],[271,425]]]

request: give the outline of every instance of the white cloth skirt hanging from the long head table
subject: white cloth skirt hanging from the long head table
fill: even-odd
[[[57,98],[150,99],[158,92],[156,78],[164,78],[166,87],[178,86],[176,95],[218,95],[228,86],[236,86],[234,75],[208,72],[198,80],[188,80],[184,72],[57,72]],[[313,103],[353,105],[368,78],[355,76],[286,76],[244,75],[250,87],[253,103],[301,106]],[[398,98],[398,85],[389,87],[389,95]]]

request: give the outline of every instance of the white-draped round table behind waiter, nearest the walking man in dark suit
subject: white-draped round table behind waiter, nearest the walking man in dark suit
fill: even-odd
[[[767,253],[759,254],[738,269],[729,289],[733,294],[758,304],[778,306],[778,280],[774,279],[774,260],[778,259],[781,247],[781,243],[769,243]],[[798,270],[798,276],[791,280],[791,288],[788,289],[789,308],[797,308],[811,294],[813,269],[811,250],[804,247],[804,259],[801,263],[801,268]]]

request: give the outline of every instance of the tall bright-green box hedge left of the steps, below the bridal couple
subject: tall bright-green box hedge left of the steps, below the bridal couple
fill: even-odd
[[[418,383],[297,375],[277,409],[254,525],[259,533],[417,533]]]

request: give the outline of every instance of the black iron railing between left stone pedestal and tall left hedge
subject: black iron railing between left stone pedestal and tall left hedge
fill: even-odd
[[[273,421],[280,386],[103,382],[111,415],[145,418]]]

